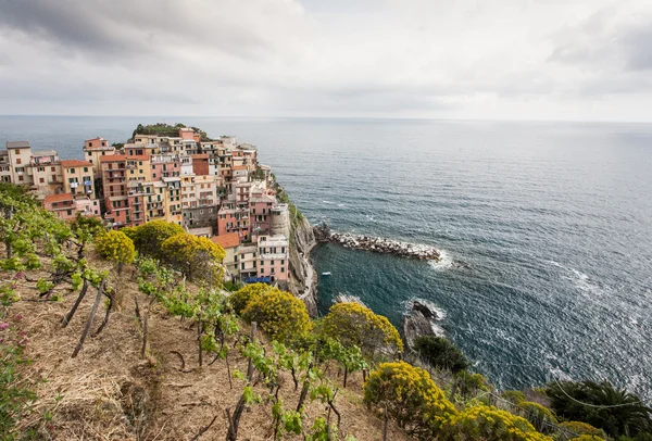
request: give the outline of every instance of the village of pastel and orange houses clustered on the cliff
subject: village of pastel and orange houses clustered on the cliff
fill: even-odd
[[[8,141],[0,181],[28,187],[62,219],[97,216],[111,228],[176,223],[222,245],[233,277],[287,288],[289,206],[279,202],[256,148],[233,136],[210,139],[196,128],[158,126],[164,133],[138,126],[125,144],[88,139],[84,160]]]

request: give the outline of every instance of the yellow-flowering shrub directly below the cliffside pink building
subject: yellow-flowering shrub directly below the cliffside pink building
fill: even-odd
[[[312,329],[303,302],[278,290],[254,295],[242,311],[242,317],[258,322],[263,331],[280,342],[291,342]]]

